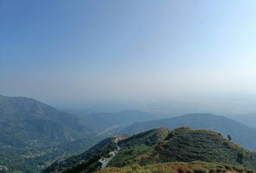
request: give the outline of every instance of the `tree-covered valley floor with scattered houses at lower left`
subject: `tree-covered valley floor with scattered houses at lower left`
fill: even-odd
[[[27,169],[38,172],[56,158],[82,152],[93,144],[95,144],[95,141],[91,139],[81,139],[55,147],[38,149],[2,146],[0,149],[0,165],[7,165],[10,172],[14,170],[26,172]]]

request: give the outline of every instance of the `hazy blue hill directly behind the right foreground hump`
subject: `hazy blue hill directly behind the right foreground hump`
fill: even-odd
[[[195,129],[218,131],[224,136],[230,134],[232,141],[235,143],[247,147],[248,149],[256,150],[256,129],[249,128],[244,124],[225,118],[224,116],[213,114],[186,114],[174,118],[138,122],[121,130],[120,134],[136,134],[141,131],[159,127],[174,129],[184,125]]]

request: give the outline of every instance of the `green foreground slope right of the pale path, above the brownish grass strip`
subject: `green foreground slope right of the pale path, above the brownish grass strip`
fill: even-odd
[[[164,128],[161,128],[164,129]],[[225,162],[232,165],[244,165],[256,168],[256,153],[243,149],[223,138],[221,134],[207,130],[192,130],[187,127],[170,131],[165,139],[158,143],[147,144],[141,138],[140,142],[130,144],[129,139],[142,134],[152,133],[152,130],[137,134],[124,141],[120,141],[121,151],[109,166],[122,167],[137,162],[139,165],[154,164],[156,162],[174,161],[206,161]],[[149,139],[149,141],[152,141]]]

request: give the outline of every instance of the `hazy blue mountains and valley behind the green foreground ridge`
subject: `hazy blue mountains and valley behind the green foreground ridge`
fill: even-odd
[[[78,161],[90,160],[95,153],[97,156],[94,159],[102,154],[108,156],[116,145],[113,143],[114,137],[111,137],[113,135],[137,134],[160,127],[174,129],[184,125],[215,130],[223,136],[229,134],[235,143],[256,150],[255,129],[224,116],[186,114],[160,120],[157,118],[159,116],[136,110],[77,116],[35,99],[0,95],[0,165],[7,165],[9,171],[22,172],[40,172],[56,165],[63,170],[70,169]],[[106,137],[110,138],[103,140],[105,143],[95,145]],[[149,139],[154,141],[151,137]],[[155,146],[151,142],[146,141]],[[137,149],[136,152],[140,153],[149,148],[142,145]],[[118,155],[113,160],[116,158]],[[45,169],[49,165],[52,166]],[[93,169],[90,164],[87,167]]]

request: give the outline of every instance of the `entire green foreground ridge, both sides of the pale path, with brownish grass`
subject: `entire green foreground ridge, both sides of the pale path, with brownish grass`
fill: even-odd
[[[113,141],[106,139],[81,155],[55,162],[46,172],[100,171],[98,160],[116,150]],[[157,167],[161,167],[160,172],[181,172],[180,167],[198,173],[253,172],[249,169],[256,169],[256,152],[244,149],[214,131],[188,127],[152,129],[120,140],[117,145],[121,150],[100,172],[157,172]],[[175,167],[176,171],[170,170]]]

